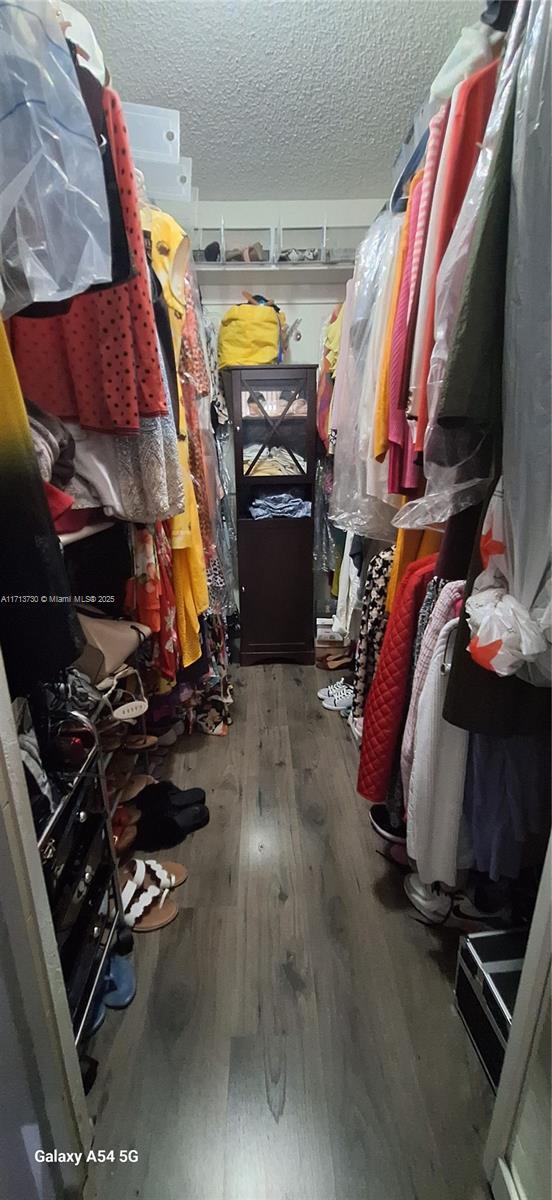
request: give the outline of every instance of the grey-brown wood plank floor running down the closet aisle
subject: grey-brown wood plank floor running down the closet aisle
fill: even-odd
[[[485,1200],[491,1092],[454,1009],[457,938],[413,919],[313,667],[235,672],[182,912],[137,935],[138,995],[92,1052],[98,1200]],[[91,1189],[92,1190],[92,1189]]]

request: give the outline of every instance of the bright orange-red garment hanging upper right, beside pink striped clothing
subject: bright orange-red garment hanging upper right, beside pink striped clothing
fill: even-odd
[[[427,323],[424,331],[424,349],[421,355],[418,388],[418,424],[415,449],[424,450],[427,427],[427,376],[430,373],[431,354],[434,346],[434,307],[437,274],[449,245],[452,229],[458,218],[469,180],[479,158],[480,144],[487,125],[488,114],[497,84],[498,61],[490,62],[469,79],[458,84],[456,104],[451,112],[450,143],[445,162],[444,190],[440,194],[440,212],[437,233],[434,264],[430,281],[430,304]],[[449,132],[448,132],[449,136]]]

